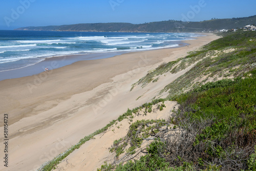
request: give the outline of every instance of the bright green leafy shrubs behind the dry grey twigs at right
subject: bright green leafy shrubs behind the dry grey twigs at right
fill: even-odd
[[[208,83],[176,96],[176,100],[181,105],[174,122],[183,123],[185,118],[189,118],[189,123],[208,122],[198,130],[194,142],[195,147],[204,148],[202,155],[207,156],[204,160],[209,163],[228,158],[239,164],[226,162],[222,167],[244,169],[246,164],[250,167],[249,163],[254,162],[251,149],[256,144],[256,78]]]

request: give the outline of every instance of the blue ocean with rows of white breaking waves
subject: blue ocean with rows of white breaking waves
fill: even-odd
[[[179,46],[181,40],[198,36],[194,33],[0,30],[0,73],[33,66],[56,56],[84,54],[88,55],[88,59],[82,60],[90,60],[92,54],[101,54],[97,58],[105,58],[112,57],[111,53],[174,48]]]

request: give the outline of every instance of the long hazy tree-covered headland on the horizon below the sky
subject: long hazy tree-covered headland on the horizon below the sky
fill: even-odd
[[[86,31],[86,32],[202,32],[221,29],[236,29],[256,24],[256,15],[241,18],[211,19],[203,22],[168,20],[145,24],[94,23],[62,26],[23,27],[15,30],[36,31]]]

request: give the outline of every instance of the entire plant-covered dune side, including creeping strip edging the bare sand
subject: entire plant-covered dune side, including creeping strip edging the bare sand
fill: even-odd
[[[83,143],[123,119],[131,122],[126,136],[110,148],[115,161],[98,170],[255,170],[256,32],[222,36],[184,58],[162,63],[132,85],[131,91],[144,88],[161,81],[161,75],[191,67],[160,92],[168,93],[165,99],[127,109],[40,170],[54,169]],[[179,107],[168,119],[133,122],[135,115],[164,110],[164,102],[170,100]]]

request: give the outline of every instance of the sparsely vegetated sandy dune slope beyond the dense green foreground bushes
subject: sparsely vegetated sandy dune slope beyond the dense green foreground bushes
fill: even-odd
[[[190,66],[193,67],[170,82],[160,92],[168,92],[168,98],[202,86],[206,82],[224,78],[243,77],[247,71],[256,66],[256,33],[239,30],[222,33],[224,37],[210,42],[198,51],[189,52],[184,58],[162,63],[158,68],[132,85],[146,87],[159,75],[178,73]]]

